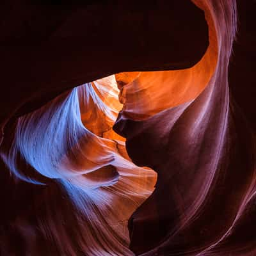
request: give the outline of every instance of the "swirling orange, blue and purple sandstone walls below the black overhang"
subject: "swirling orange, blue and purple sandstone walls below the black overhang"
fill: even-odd
[[[27,105],[1,116],[1,255],[256,254],[255,137],[228,89],[236,1],[188,2],[209,28],[196,63],[175,43],[172,63],[156,68],[144,55],[132,67],[127,57],[114,72],[75,79],[93,82],[45,88],[36,108],[30,88]],[[70,20],[53,38],[68,38],[79,22]]]

